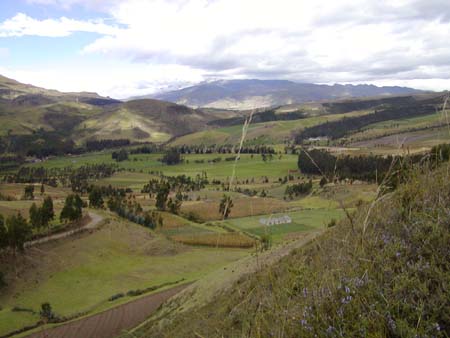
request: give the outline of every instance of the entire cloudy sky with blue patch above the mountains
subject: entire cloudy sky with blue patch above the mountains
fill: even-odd
[[[217,79],[450,89],[449,0],[2,0],[0,74],[114,98]]]

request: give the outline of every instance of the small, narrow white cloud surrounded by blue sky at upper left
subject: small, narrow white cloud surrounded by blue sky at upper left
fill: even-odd
[[[24,35],[64,37],[74,32],[115,35],[118,31],[119,28],[107,25],[102,20],[81,21],[66,17],[36,20],[23,13],[18,13],[0,24],[0,37]]]

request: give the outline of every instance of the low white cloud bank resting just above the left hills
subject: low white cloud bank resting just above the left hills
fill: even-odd
[[[71,68],[50,66],[39,69],[0,66],[0,74],[47,89],[97,92],[117,99],[179,89],[203,79],[200,71],[185,66],[116,63],[105,67],[74,65]]]

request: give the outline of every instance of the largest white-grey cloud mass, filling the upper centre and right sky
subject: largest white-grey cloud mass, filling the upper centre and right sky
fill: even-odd
[[[86,53],[211,76],[357,81],[405,76],[437,55],[450,64],[450,5],[437,0],[130,0],[109,14],[127,28]]]

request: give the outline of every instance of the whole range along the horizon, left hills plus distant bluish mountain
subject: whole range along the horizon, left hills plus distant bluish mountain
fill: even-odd
[[[233,80],[203,83],[158,94],[157,98],[122,102],[96,93],[62,93],[0,76],[0,136],[20,137],[21,143],[42,142],[39,136],[42,133],[53,135],[52,140],[73,141],[78,145],[95,139],[160,143],[218,126],[234,125],[236,121],[242,123],[242,116],[246,113],[206,106],[243,109],[320,101],[331,96],[336,99],[377,95],[375,102],[367,99],[349,101],[353,102],[351,109],[356,109],[354,105],[366,109],[382,104],[379,100],[417,92],[420,91],[372,85],[327,86],[290,81]],[[315,108],[310,107],[311,112],[305,107],[302,111],[307,115],[345,112],[350,104],[332,102],[322,101],[316,103]],[[193,108],[198,106],[202,108]],[[293,111],[299,108],[292,106],[286,109]],[[285,116],[269,117],[270,121],[286,119]],[[18,141],[16,143],[19,144]]]

